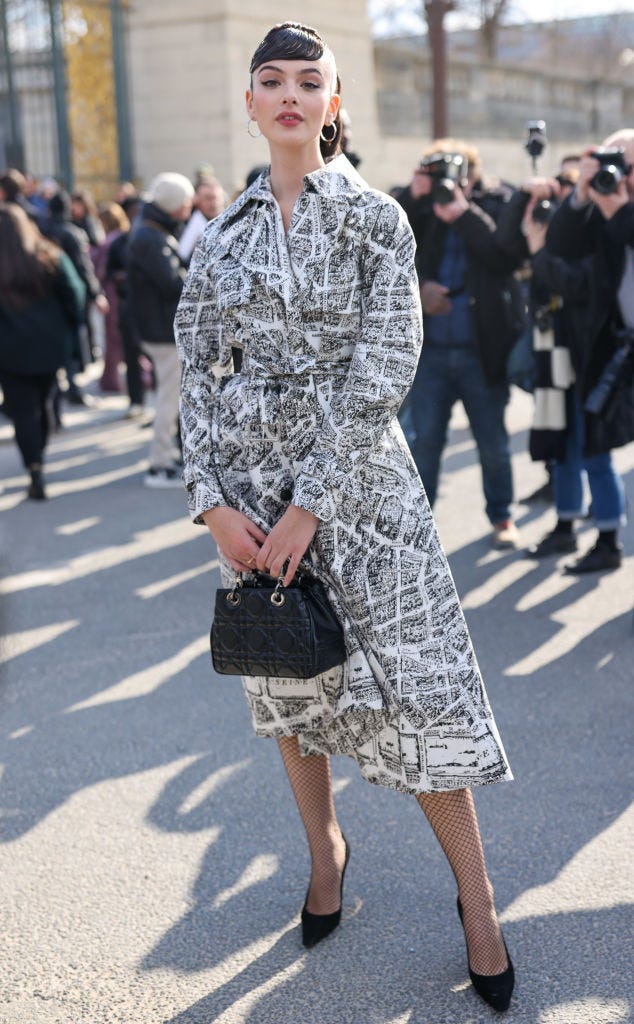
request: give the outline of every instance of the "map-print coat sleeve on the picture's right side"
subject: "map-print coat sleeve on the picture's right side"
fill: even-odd
[[[346,383],[295,481],[293,503],[323,521],[354,488],[412,386],[422,344],[414,250],[405,213],[383,206],[364,245],[361,333]]]

